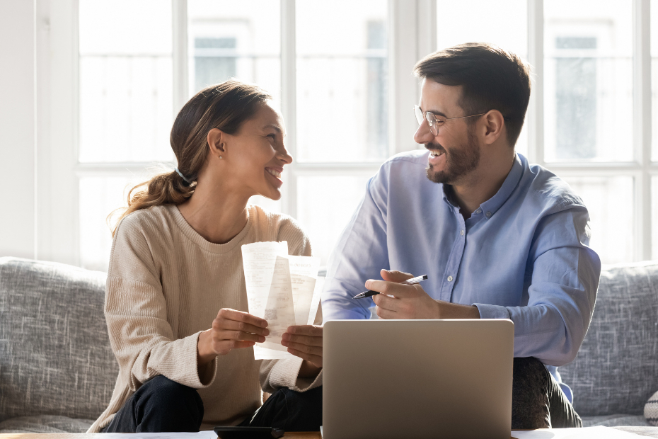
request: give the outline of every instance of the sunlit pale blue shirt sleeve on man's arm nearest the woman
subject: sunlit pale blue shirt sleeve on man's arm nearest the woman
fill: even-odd
[[[354,300],[368,279],[380,279],[389,268],[386,241],[388,163],[370,179],[366,193],[329,258],[322,294],[324,321],[369,319],[370,297]]]

